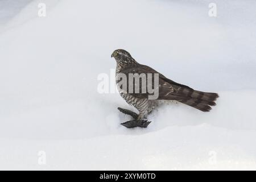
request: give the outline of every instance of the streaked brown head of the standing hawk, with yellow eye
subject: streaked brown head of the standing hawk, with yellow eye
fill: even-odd
[[[115,50],[111,57],[114,57],[114,59],[117,61],[117,64],[121,65],[128,65],[137,63],[133,57],[131,57],[130,53],[125,51],[124,49],[117,49]]]

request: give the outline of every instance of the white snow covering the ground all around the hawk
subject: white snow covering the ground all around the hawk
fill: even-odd
[[[38,16],[38,3],[47,16]],[[209,3],[217,17],[208,15]],[[0,0],[0,169],[256,169],[256,2]],[[126,129],[114,49],[220,98]],[[46,152],[40,165],[39,151]]]

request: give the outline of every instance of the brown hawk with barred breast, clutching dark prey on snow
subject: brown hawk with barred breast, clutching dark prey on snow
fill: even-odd
[[[139,111],[139,114],[137,114],[133,111],[118,107],[119,111],[124,114],[131,115],[131,117],[134,118],[132,121],[121,123],[121,125],[127,128],[147,127],[150,124],[150,122],[146,119],[147,115],[163,102],[178,101],[204,112],[210,111],[212,109],[210,106],[216,105],[214,101],[216,101],[218,98],[217,93],[200,92],[193,90],[189,86],[178,84],[154,69],[146,65],[139,64],[137,61],[135,61],[135,59],[133,59],[133,57],[131,57],[130,53],[124,49],[115,50],[111,57],[114,57],[115,61],[117,62],[115,77],[119,94],[128,104],[134,106]],[[147,89],[146,92],[142,92],[142,79],[139,80],[139,92],[128,92],[127,88],[122,89],[122,86],[118,85],[118,83],[121,81],[119,75],[129,77],[130,74],[144,74],[146,77],[148,77],[148,74],[158,74],[158,85],[152,84],[154,88],[157,86],[158,98],[153,100],[149,99],[149,96],[152,95],[152,93],[150,93]],[[130,81],[127,81],[127,84],[128,87],[130,87],[129,84],[136,86],[134,82]]]

